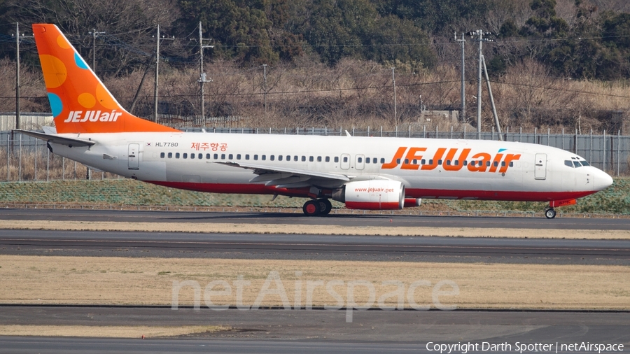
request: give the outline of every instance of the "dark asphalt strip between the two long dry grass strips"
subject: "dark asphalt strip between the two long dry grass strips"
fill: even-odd
[[[627,264],[630,241],[0,229],[0,254]],[[423,258],[422,258],[423,257]]]

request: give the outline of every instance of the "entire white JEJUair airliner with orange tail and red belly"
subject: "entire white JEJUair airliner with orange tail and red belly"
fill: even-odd
[[[554,207],[612,184],[582,157],[529,143],[356,136],[184,133],[131,115],[54,24],[34,24],[55,129],[21,131],[93,169],[215,193],[329,199],[347,208],[417,206],[421,198],[548,201]]]

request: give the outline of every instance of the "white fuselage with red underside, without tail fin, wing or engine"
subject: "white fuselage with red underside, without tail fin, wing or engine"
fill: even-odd
[[[573,153],[530,143],[183,132],[80,134],[80,139],[96,143],[90,148],[52,143],[52,151],[127,178],[203,192],[309,197],[309,186],[326,190],[344,184],[302,177],[269,185],[251,181],[260,174],[253,169],[217,162],[397,180],[410,198],[554,201],[584,197],[612,183]],[[578,163],[569,167],[567,161]]]

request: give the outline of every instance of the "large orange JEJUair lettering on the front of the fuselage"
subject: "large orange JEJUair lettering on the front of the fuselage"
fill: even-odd
[[[499,149],[494,156],[489,153],[475,153],[469,157],[471,150],[469,148],[461,150],[438,148],[433,157],[426,158],[424,154],[426,148],[401,146],[396,150],[390,162],[382,164],[381,169],[394,169],[400,166],[400,169],[430,171],[441,166],[444,171],[459,171],[466,167],[471,172],[505,173],[508,167],[514,166],[514,161],[521,158],[521,154],[503,153],[507,150],[503,148]]]

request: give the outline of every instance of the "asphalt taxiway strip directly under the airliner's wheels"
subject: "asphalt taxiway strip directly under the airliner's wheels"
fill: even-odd
[[[190,211],[103,211],[86,209],[1,209],[0,220],[77,220],[118,222],[235,222],[246,224],[341,225],[387,227],[482,227],[512,229],[629,230],[629,219],[613,218],[510,218],[476,216],[424,216],[354,214],[309,218],[297,213],[210,213]],[[392,220],[392,222],[390,222]]]

